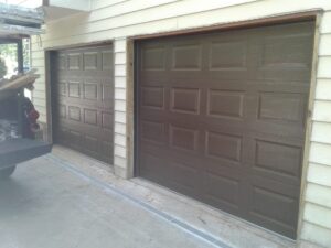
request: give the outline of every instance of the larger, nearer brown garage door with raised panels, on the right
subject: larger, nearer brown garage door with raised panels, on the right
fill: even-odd
[[[313,23],[138,43],[138,173],[295,238]]]

